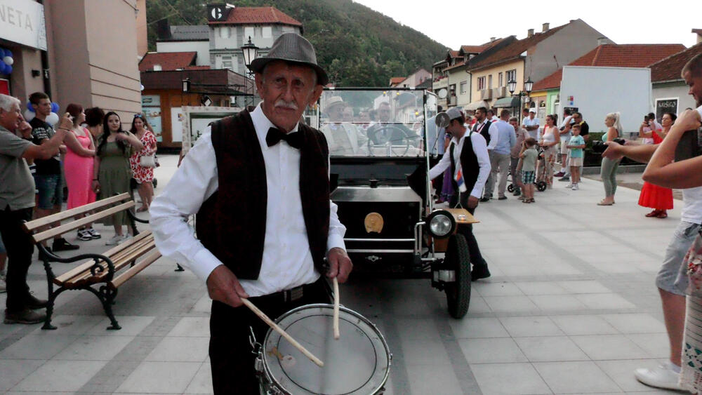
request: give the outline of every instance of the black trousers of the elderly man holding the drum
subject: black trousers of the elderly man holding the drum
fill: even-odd
[[[250,297],[249,301],[275,320],[291,309],[312,303],[331,301],[329,286],[321,277],[317,282],[304,286],[303,297],[285,301],[282,293]],[[230,307],[222,302],[212,302],[210,316],[210,362],[212,386],[215,394],[259,394],[258,378],[253,366],[249,336],[251,330],[256,341],[263,344],[269,327],[245,306]]]

